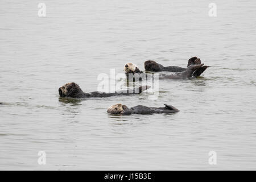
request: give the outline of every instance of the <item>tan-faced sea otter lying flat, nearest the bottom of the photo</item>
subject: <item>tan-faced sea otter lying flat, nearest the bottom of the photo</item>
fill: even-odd
[[[174,106],[164,104],[165,107],[146,107],[142,105],[131,107],[126,105],[115,104],[108,108],[107,112],[110,114],[154,114],[154,113],[177,113],[179,112]]]

